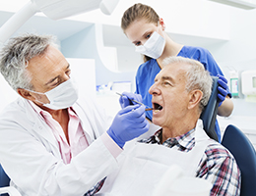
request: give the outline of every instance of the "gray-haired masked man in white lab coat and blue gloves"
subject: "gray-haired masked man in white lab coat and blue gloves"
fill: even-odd
[[[149,129],[145,106],[111,121],[79,97],[71,66],[49,35],[18,36],[1,51],[0,71],[21,97],[0,114],[0,163],[23,196],[96,194],[125,142]]]

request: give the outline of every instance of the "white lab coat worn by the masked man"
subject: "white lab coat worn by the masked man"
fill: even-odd
[[[90,146],[68,165],[62,162],[51,129],[28,100],[19,98],[0,115],[0,163],[23,196],[81,196],[118,168],[99,137],[111,120],[89,98],[78,100],[73,108]]]

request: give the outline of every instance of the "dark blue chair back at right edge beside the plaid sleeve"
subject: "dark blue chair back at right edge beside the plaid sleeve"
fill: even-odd
[[[224,130],[222,144],[233,155],[241,172],[240,196],[256,193],[256,152],[246,135],[236,126],[228,125]]]

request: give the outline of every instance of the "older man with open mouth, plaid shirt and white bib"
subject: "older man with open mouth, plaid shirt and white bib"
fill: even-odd
[[[171,165],[209,180],[212,196],[239,195],[234,158],[207,136],[199,119],[211,95],[212,77],[195,60],[169,57],[164,65],[149,90],[153,123],[162,128],[119,157],[122,167],[107,177],[99,195],[151,195]]]

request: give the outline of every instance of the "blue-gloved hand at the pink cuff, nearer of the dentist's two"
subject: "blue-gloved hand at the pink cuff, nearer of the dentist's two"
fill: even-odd
[[[140,136],[149,128],[150,124],[145,116],[145,106],[136,104],[120,110],[106,132],[122,148],[126,141]]]

